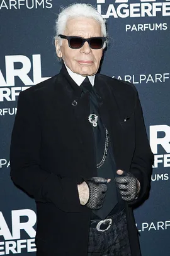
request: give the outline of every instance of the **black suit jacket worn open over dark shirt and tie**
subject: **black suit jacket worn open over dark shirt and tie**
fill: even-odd
[[[138,256],[132,205],[149,192],[153,162],[139,97],[132,84],[105,75],[96,75],[95,86],[116,168],[130,171],[140,181],[139,198],[126,204],[132,255]],[[80,204],[77,184],[97,174],[88,116],[89,93],[81,97],[81,88],[64,68],[20,93],[11,139],[11,177],[37,202],[36,243],[41,256],[87,253],[91,210]]]

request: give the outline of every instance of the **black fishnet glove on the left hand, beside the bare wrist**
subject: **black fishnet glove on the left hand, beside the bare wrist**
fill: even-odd
[[[85,180],[89,187],[89,200],[86,206],[92,210],[98,210],[102,207],[108,189],[105,178],[93,177]]]

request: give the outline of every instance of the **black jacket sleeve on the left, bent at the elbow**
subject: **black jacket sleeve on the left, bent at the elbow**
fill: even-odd
[[[42,134],[33,90],[21,92],[11,136],[11,178],[37,202],[51,202],[59,209],[80,212],[76,178],[60,178],[41,167]]]

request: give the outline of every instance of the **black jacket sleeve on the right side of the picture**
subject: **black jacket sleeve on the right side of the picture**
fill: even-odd
[[[142,107],[139,101],[139,95],[135,87],[135,152],[133,154],[130,172],[140,182],[140,193],[136,200],[128,203],[128,205],[139,204],[143,202],[149,195],[150,181],[152,174],[152,164],[154,163],[154,155],[151,152],[147,133],[145,130]]]

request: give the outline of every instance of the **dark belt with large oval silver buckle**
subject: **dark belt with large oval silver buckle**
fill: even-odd
[[[104,232],[111,227],[111,224],[113,223],[113,221],[116,221],[116,217],[118,217],[123,212],[125,212],[125,209],[123,209],[118,214],[115,214],[113,216],[108,216],[106,219],[91,220],[90,228],[96,228],[99,232]]]

